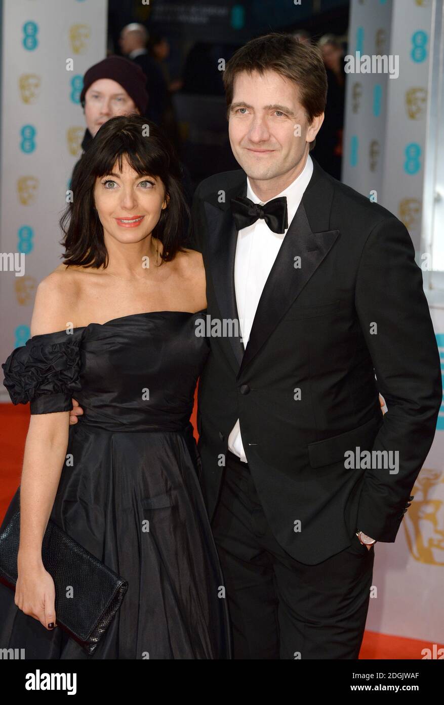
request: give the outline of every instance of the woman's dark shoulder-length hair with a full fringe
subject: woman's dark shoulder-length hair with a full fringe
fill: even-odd
[[[184,251],[189,208],[182,190],[179,160],[156,123],[132,114],[106,121],[75,165],[70,186],[72,203],[68,203],[60,220],[64,233],[61,244],[65,247],[63,264],[96,269],[108,266],[103,226],[94,208],[94,186],[97,178],[112,173],[116,161],[122,171],[124,159],[140,176],[160,178],[170,197],[153,229],[153,237],[163,245],[160,264]]]

